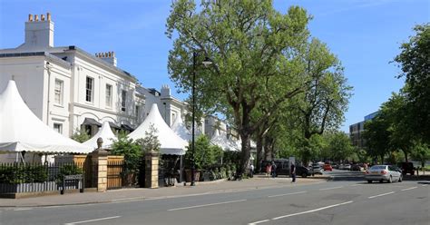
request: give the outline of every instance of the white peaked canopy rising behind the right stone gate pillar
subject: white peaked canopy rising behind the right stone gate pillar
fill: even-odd
[[[185,154],[185,148],[188,146],[188,142],[181,139],[181,137],[173,132],[169,125],[164,122],[156,103],[152,104],[151,111],[142,124],[139,125],[134,132],[131,132],[128,137],[134,140],[144,138],[145,132],[150,132],[151,124],[157,129],[156,135],[161,143],[161,154]]]

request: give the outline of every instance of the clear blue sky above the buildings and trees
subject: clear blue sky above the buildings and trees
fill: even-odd
[[[169,84],[175,93],[167,73],[171,40],[164,34],[170,5],[171,0],[0,0],[0,49],[24,42],[29,14],[50,12],[55,46],[76,45],[91,54],[114,51],[118,66],[145,87]],[[314,16],[311,34],[327,43],[344,65],[354,86],[341,127],[345,132],[403,86],[395,78],[399,69],[389,62],[414,25],[430,21],[428,0],[275,0],[274,5],[282,13],[290,5],[305,7]]]

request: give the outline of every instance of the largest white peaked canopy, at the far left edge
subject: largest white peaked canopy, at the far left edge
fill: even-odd
[[[92,149],[39,120],[24,103],[15,81],[9,81],[0,94],[0,151],[88,153]]]

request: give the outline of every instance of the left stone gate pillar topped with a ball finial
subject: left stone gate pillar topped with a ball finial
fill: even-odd
[[[97,139],[98,148],[91,152],[92,160],[97,163],[96,170],[93,171],[95,181],[97,181],[97,191],[107,190],[107,156],[108,152],[102,149],[103,139]]]

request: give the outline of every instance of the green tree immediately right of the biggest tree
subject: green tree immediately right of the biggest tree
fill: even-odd
[[[303,151],[309,150],[309,141],[315,134],[327,129],[337,129],[344,121],[348,99],[352,87],[347,85],[343,68],[326,44],[312,39],[304,57],[306,73],[311,78],[305,93],[301,93],[302,103],[297,104],[303,129]],[[304,152],[303,161],[308,162],[310,152]]]

